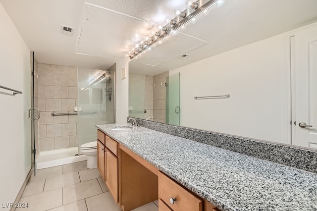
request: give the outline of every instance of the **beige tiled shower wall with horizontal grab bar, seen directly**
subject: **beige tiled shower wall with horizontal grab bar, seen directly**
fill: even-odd
[[[78,146],[77,115],[52,116],[73,112],[78,99],[77,67],[38,64],[39,150]]]

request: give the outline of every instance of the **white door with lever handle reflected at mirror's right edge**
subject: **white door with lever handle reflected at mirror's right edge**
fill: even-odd
[[[317,24],[295,33],[293,44],[292,144],[317,149]]]

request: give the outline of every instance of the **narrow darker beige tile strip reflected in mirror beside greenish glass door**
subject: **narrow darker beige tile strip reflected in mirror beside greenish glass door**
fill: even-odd
[[[163,72],[153,77],[153,120],[157,122],[165,122],[165,104],[166,104],[166,77],[169,71]]]

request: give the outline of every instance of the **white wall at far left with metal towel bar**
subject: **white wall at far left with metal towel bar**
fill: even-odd
[[[0,203],[14,202],[31,169],[30,50],[0,3],[0,85],[22,91],[14,97],[0,89]],[[7,209],[9,210],[9,209]]]

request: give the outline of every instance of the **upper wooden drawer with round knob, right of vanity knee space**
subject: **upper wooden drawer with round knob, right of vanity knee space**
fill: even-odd
[[[173,211],[203,211],[203,200],[159,172],[159,199]],[[173,204],[170,199],[174,200]]]

